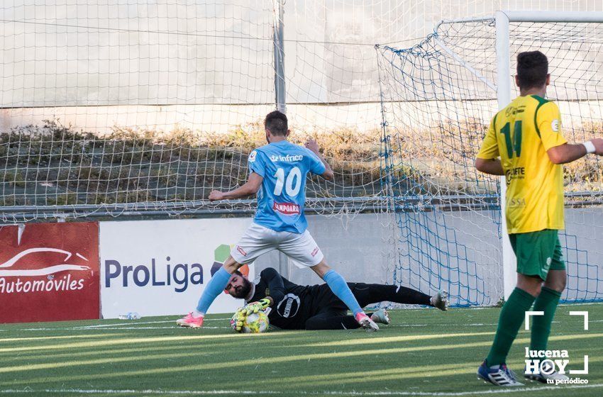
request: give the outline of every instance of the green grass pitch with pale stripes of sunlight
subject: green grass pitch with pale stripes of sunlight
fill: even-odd
[[[603,304],[561,306],[549,349],[587,385],[494,388],[478,381],[499,308],[392,311],[381,332],[238,335],[228,315],[206,328],[176,317],[0,325],[1,396],[603,396]],[[570,311],[588,311],[590,330]],[[523,328],[509,357],[524,367]]]

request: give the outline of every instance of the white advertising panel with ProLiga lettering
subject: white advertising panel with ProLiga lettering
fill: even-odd
[[[193,311],[211,276],[250,224],[251,218],[101,222],[103,318]],[[240,270],[253,280],[253,265]],[[233,313],[242,305],[221,293],[209,313]]]

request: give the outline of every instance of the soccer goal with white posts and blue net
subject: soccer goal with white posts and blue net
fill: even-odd
[[[474,160],[490,118],[516,96],[516,55],[549,58],[548,98],[563,134],[584,142],[603,134],[603,13],[498,11],[441,21],[410,48],[377,46],[382,148],[395,224],[394,283],[448,289],[459,306],[493,305],[516,279],[504,225],[504,178]],[[564,301],[603,298],[603,161],[565,166],[568,266]],[[504,266],[501,266],[504,264]]]

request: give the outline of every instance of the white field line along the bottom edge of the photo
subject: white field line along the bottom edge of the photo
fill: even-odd
[[[572,386],[535,386],[535,387],[517,387],[517,388],[488,388],[478,391],[460,391],[460,392],[430,392],[430,391],[250,391],[250,390],[118,390],[118,389],[80,389],[80,388],[46,388],[46,389],[0,389],[0,394],[25,393],[25,394],[133,394],[133,395],[184,395],[184,396],[211,396],[221,394],[243,394],[243,395],[297,395],[297,396],[439,396],[439,397],[457,397],[457,396],[484,396],[492,394],[514,394],[530,391],[561,391],[566,389],[581,388],[602,388],[603,384],[586,384]]]

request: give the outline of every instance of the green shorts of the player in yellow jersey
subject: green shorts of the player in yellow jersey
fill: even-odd
[[[509,235],[517,257],[517,273],[546,280],[550,269],[565,270],[558,230],[545,229]]]

